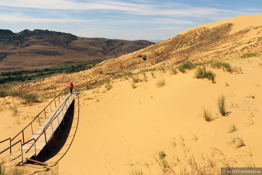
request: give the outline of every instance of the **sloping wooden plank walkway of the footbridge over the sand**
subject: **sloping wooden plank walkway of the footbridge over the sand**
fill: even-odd
[[[75,94],[77,94],[77,93],[75,93]],[[64,117],[67,117],[66,112],[67,112],[68,108],[70,107],[71,103],[74,100],[74,94],[72,94],[71,97],[70,97],[70,95],[71,95],[70,93],[67,94],[60,101],[60,103],[57,105],[57,107],[55,107],[55,109],[51,112],[51,114],[45,119],[44,123],[39,127],[39,129],[36,130],[36,132],[30,138],[30,139],[32,139],[32,138],[37,139],[39,137],[39,135],[42,134],[35,142],[36,153],[35,153],[34,141],[33,140],[22,146],[23,163],[26,161],[26,158],[32,158],[35,154],[36,154],[36,156],[39,154],[39,152],[45,147],[46,143],[51,139],[51,137],[52,137],[53,133],[56,131],[56,129],[59,129],[59,133],[60,133],[60,127],[58,128],[58,126],[62,122],[64,122]],[[67,98],[68,98],[68,100],[66,101]],[[66,104],[65,104],[65,102],[66,102]],[[59,115],[58,115],[58,113],[59,113]],[[58,117],[56,117],[57,115],[58,115]],[[53,120],[53,122],[51,123],[52,120]],[[46,129],[46,126],[48,126],[47,129]],[[43,133],[44,130],[45,130],[45,133]],[[19,164],[21,162],[21,150],[19,149],[16,153],[9,154],[8,157],[6,158],[6,161],[14,161],[14,162],[17,162],[17,164]]]

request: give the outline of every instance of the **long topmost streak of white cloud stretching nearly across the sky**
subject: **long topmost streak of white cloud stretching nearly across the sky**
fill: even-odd
[[[47,10],[104,10],[120,11],[126,14],[134,15],[167,15],[167,16],[186,16],[203,17],[210,15],[219,15],[220,13],[238,14],[237,11],[224,10],[219,8],[196,8],[184,4],[162,4],[139,1],[140,3],[130,3],[123,1],[68,1],[68,0],[0,0],[1,6],[17,8],[36,8]],[[253,11],[254,9],[251,9]]]

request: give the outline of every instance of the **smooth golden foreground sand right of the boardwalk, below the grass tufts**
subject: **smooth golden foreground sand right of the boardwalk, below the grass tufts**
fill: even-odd
[[[177,155],[181,161],[178,166],[188,171],[187,161],[192,155],[206,169],[210,166],[207,156],[214,156],[216,168],[223,167],[224,161],[234,167],[250,166],[252,162],[259,167],[262,157],[259,141],[262,135],[258,132],[262,123],[259,62],[260,57],[232,61],[232,66],[242,67],[242,74],[211,68],[216,73],[216,83],[193,78],[195,70],[172,76],[169,71],[156,71],[155,78],[147,72],[148,81],[136,83],[134,89],[131,78],[122,78],[112,80],[108,91],[104,85],[83,91],[79,102],[76,99],[70,137],[59,152],[54,149],[56,155],[44,156],[45,162],[51,165],[59,160],[59,174],[129,174],[130,164],[145,174],[159,174],[160,166],[153,155],[158,158],[158,151],[164,150],[167,161]],[[139,78],[143,76],[140,74]],[[159,78],[166,81],[161,88],[155,84]],[[229,112],[226,116],[219,113],[216,104],[222,93]],[[213,121],[203,119],[203,108],[211,110]],[[232,124],[236,132],[227,133]],[[194,134],[197,140],[193,140]],[[242,138],[245,146],[235,149],[228,144],[231,137]],[[172,141],[176,142],[175,147]],[[225,160],[219,159],[221,155],[215,148],[222,151]],[[178,166],[174,167],[176,172],[180,170]],[[28,173],[46,168],[54,167],[26,166]]]

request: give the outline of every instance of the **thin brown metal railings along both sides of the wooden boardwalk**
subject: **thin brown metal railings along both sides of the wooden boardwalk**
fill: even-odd
[[[3,140],[3,141],[0,142],[0,144],[3,143],[3,142],[5,142],[5,141],[8,141],[8,140],[9,140],[9,142],[10,142],[10,146],[9,146],[8,148],[5,148],[3,151],[1,151],[0,154],[4,153],[4,152],[7,151],[8,149],[10,149],[10,154],[11,154],[11,153],[12,153],[11,148],[12,148],[13,146],[17,145],[17,144],[20,142],[21,161],[22,161],[22,164],[23,164],[23,150],[22,150],[22,146],[25,145],[25,144],[27,144],[27,143],[29,143],[29,142],[31,142],[31,141],[33,141],[33,142],[34,142],[34,149],[35,149],[35,157],[36,157],[36,145],[35,145],[35,143],[37,142],[37,140],[38,140],[43,134],[45,134],[46,129],[48,129],[48,127],[49,127],[50,125],[51,125],[51,129],[52,129],[52,136],[53,136],[53,139],[54,139],[54,147],[55,147],[55,138],[54,138],[54,133],[53,133],[53,125],[52,125],[52,122],[53,122],[56,118],[58,119],[59,136],[60,136],[60,138],[61,138],[60,126],[59,126],[60,123],[59,123],[58,115],[62,112],[62,116],[63,116],[63,119],[62,119],[62,120],[63,120],[63,127],[64,127],[64,111],[63,111],[63,109],[64,109],[64,106],[67,105],[67,101],[68,101],[68,104],[70,105],[70,102],[69,102],[68,99],[71,97],[71,100],[73,101],[73,99],[75,98],[75,94],[79,94],[79,92],[82,91],[81,88],[87,87],[87,90],[88,90],[88,87],[90,87],[90,86],[95,86],[95,87],[96,87],[96,84],[84,84],[84,85],[77,86],[76,89],[73,91],[73,93],[70,94],[70,96],[67,97],[67,99],[65,100],[65,102],[58,108],[58,110],[57,110],[57,111],[55,112],[55,114],[52,116],[52,119],[51,119],[51,120],[48,122],[48,124],[45,126],[45,128],[44,128],[43,131],[42,131],[42,133],[41,133],[37,138],[32,138],[32,139],[28,140],[27,142],[24,142],[24,130],[27,129],[28,126],[31,126],[31,132],[32,132],[32,136],[33,136],[32,123],[38,118],[39,127],[40,127],[41,124],[40,124],[39,115],[40,115],[42,112],[44,112],[44,113],[45,113],[45,119],[46,119],[46,112],[45,112],[46,108],[47,108],[48,106],[50,106],[50,111],[51,111],[50,114],[51,114],[51,113],[52,113],[51,103],[54,101],[55,107],[57,107],[55,100],[58,98],[58,101],[59,101],[59,103],[60,103],[60,96],[61,96],[61,100],[62,100],[62,99],[63,99],[63,94],[64,94],[64,97],[66,96],[66,92],[67,92],[67,94],[68,94],[68,89],[69,89],[69,87],[67,87],[67,88],[65,88],[64,90],[62,90],[61,93],[58,94],[26,127],[24,127],[24,129],[22,129],[16,136],[14,136],[14,138],[12,138],[12,139],[11,139],[11,138],[7,138],[7,139],[5,139],[5,140]],[[69,90],[69,91],[70,91],[70,90]],[[74,96],[74,97],[72,98],[72,96]],[[62,108],[61,108],[61,107],[62,107]],[[61,110],[60,110],[60,109],[61,109]],[[67,109],[67,106],[66,106],[66,109]],[[69,107],[69,109],[70,109],[70,107]],[[60,111],[60,112],[58,112],[58,111]],[[71,112],[71,109],[70,109],[70,112]],[[67,114],[67,111],[66,111],[66,114]],[[68,116],[67,116],[67,119],[68,119]],[[15,142],[14,144],[11,145],[11,142],[12,142],[18,135],[20,135],[21,133],[22,133],[22,135],[23,135],[23,144],[22,144],[22,139],[20,139],[20,140],[18,140],[17,142]],[[31,137],[32,137],[32,136],[31,136]],[[51,138],[51,137],[50,137],[50,138]],[[46,140],[46,134],[45,134],[45,145],[47,144],[48,141],[49,141],[49,140]],[[46,151],[47,151],[47,154],[48,154],[47,146],[46,146]],[[10,155],[10,154],[9,154],[9,155]],[[36,159],[37,159],[37,158],[36,158]]]

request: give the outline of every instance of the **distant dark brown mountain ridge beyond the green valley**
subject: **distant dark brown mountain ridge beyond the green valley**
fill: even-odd
[[[0,29],[0,69],[104,61],[154,44],[146,40],[84,38],[49,30],[13,33]]]

